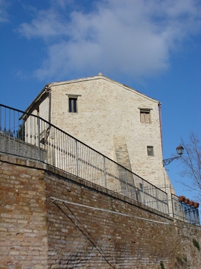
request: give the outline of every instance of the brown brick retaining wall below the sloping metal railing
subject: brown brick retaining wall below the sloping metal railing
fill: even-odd
[[[45,164],[0,155],[0,171],[2,269],[201,267],[198,226]]]

